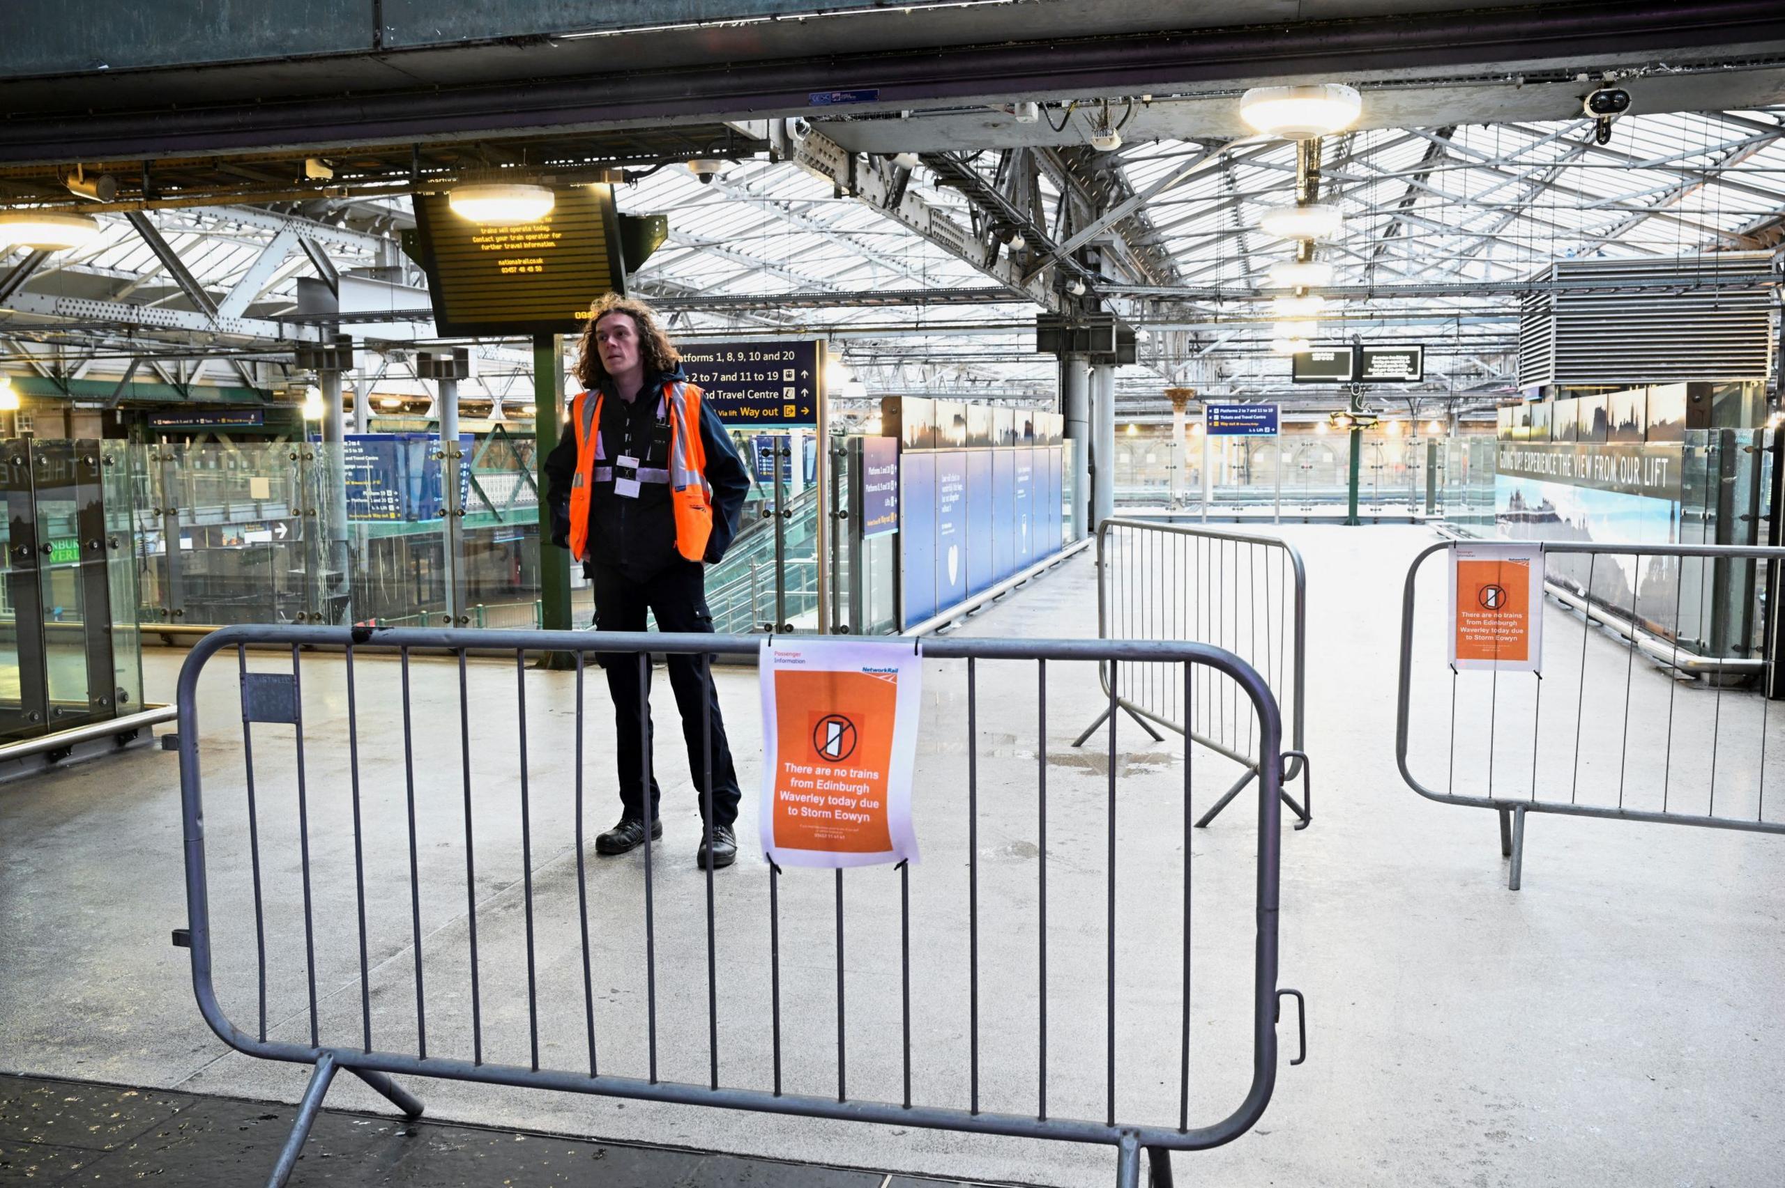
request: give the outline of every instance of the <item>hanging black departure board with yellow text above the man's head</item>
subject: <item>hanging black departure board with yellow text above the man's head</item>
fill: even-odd
[[[582,334],[589,305],[625,293],[619,218],[609,186],[559,189],[552,214],[480,227],[446,194],[416,194],[421,268],[441,335]]]

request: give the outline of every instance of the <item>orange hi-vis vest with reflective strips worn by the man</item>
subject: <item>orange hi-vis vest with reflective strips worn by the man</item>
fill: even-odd
[[[700,437],[700,398],[702,392],[693,384],[664,384],[657,416],[668,414],[669,421],[669,469],[639,467],[641,483],[669,483],[675,549],[691,562],[705,560],[707,537],[712,535],[712,487],[707,485],[707,446]],[[591,489],[614,478],[612,458],[602,448],[602,392],[582,392],[569,414],[577,430],[577,476],[569,485],[569,555],[577,560],[589,560]]]

